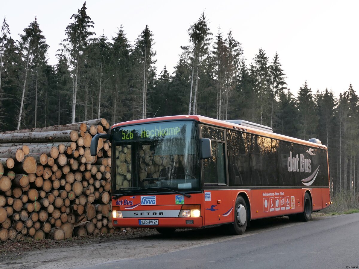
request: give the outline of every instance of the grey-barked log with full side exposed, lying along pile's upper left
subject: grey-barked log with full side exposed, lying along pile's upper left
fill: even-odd
[[[76,131],[51,131],[31,133],[11,133],[0,136],[0,143],[14,142],[75,142],[79,138]]]

